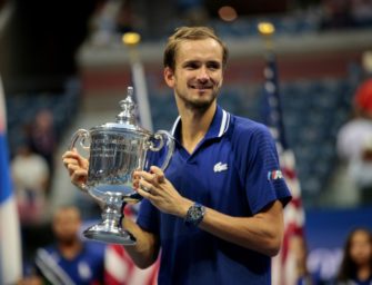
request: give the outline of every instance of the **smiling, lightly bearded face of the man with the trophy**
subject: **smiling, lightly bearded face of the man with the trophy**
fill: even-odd
[[[207,110],[215,105],[223,79],[222,57],[221,45],[211,38],[179,43],[174,69],[164,69],[179,108]]]

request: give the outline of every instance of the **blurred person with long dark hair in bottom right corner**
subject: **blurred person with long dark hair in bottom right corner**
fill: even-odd
[[[352,230],[346,238],[343,254],[336,284],[372,284],[372,233],[366,228]]]

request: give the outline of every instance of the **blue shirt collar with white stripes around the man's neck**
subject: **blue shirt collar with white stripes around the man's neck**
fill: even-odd
[[[209,127],[209,130],[204,139],[222,137],[229,129],[230,116],[231,116],[230,112],[223,110],[220,106],[217,106],[212,124]],[[180,138],[180,128],[181,128],[181,117],[179,116],[175,119],[171,131],[172,136],[177,139]]]

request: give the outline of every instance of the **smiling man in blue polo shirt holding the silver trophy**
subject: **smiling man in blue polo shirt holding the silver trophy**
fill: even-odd
[[[180,117],[175,150],[163,173],[134,171],[144,197],[137,223],[124,219],[137,245],[125,249],[145,268],[161,249],[159,284],[270,284],[271,256],[283,236],[291,198],[269,130],[217,104],[228,50],[204,27],[180,28],[164,51],[164,80]],[[72,183],[88,161],[67,151]]]

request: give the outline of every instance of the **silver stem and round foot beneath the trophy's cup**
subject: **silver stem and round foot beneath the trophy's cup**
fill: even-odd
[[[83,232],[88,238],[121,245],[135,245],[134,236],[121,227],[122,195],[119,193],[105,193],[102,222]]]

